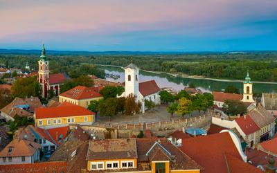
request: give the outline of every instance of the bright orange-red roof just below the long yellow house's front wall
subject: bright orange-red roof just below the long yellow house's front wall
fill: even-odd
[[[56,145],[59,145],[60,143],[62,143],[64,138],[66,138],[67,134],[69,133],[69,126],[57,127],[52,129],[42,129],[42,128],[36,128],[36,129],[39,132],[39,134],[41,134],[46,140]]]

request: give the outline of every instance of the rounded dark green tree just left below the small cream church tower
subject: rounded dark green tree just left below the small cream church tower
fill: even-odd
[[[238,100],[226,100],[223,104],[222,110],[228,116],[237,116],[247,113],[247,107]]]

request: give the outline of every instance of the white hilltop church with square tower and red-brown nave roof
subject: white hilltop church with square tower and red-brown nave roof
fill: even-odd
[[[141,112],[147,110],[144,100],[151,100],[155,104],[161,104],[161,89],[154,80],[139,83],[139,68],[131,63],[125,67],[125,92],[120,97],[129,94],[136,95],[136,101],[141,102]]]

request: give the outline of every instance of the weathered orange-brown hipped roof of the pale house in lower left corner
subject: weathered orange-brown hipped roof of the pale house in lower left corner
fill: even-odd
[[[33,156],[39,148],[40,145],[38,143],[29,140],[14,139],[0,152],[0,157]]]

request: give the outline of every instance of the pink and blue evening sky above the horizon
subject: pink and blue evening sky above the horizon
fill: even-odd
[[[277,50],[277,0],[0,0],[0,48]]]

